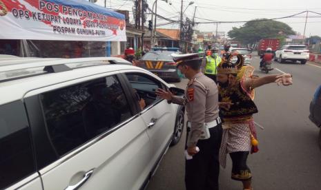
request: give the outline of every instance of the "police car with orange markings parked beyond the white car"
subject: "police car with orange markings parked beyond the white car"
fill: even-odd
[[[155,51],[147,52],[142,59],[137,62],[138,67],[142,67],[166,81],[180,82],[176,63],[171,54],[177,51],[157,48]]]

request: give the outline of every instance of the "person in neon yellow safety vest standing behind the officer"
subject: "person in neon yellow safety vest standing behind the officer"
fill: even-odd
[[[216,83],[217,65],[221,62],[221,57],[217,53],[218,49],[213,47],[211,55],[206,56],[206,63],[202,64],[202,70],[206,76]]]

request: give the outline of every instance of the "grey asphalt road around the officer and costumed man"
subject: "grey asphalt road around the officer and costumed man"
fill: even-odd
[[[252,65],[258,69],[260,59],[253,56]],[[279,87],[275,83],[256,89],[255,103],[259,113],[255,122],[260,151],[249,156],[248,165],[253,173],[253,188],[271,189],[321,189],[321,150],[318,147],[319,129],[309,120],[309,103],[315,89],[321,85],[321,64],[308,62],[276,63],[271,74],[293,74],[293,85]],[[255,74],[264,76],[260,70]],[[176,83],[184,88],[187,80]],[[148,190],[183,190],[184,141],[168,149]],[[231,180],[231,160],[220,171],[220,189],[242,189],[242,184]]]

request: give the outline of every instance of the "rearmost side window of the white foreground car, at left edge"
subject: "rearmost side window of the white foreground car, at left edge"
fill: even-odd
[[[0,189],[35,173],[30,129],[23,103],[0,106]]]

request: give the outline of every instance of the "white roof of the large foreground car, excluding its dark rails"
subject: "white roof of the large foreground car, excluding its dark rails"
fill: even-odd
[[[119,58],[115,58],[115,57],[104,58],[103,60],[108,60],[108,59],[109,60],[124,61],[124,59],[119,59]],[[81,59],[77,59],[78,62],[75,62],[75,60],[72,60],[72,59],[41,59],[42,62],[39,61],[39,59],[35,59],[35,60],[37,60],[37,62],[34,63],[34,62],[30,62],[31,60],[34,60],[34,59],[25,59],[25,61],[28,61],[28,63],[21,63],[21,62],[19,63],[19,61],[18,61],[18,62],[14,62],[13,65],[7,64],[7,65],[1,66],[1,64],[0,64],[0,70],[1,69],[4,70],[3,67],[10,69],[10,67],[8,67],[8,66],[16,67],[17,65],[22,65],[22,66],[26,67],[26,65],[30,65],[33,67],[35,65],[35,63],[41,63],[44,65],[46,61],[52,62],[52,63],[53,62],[57,63],[57,61],[63,60],[62,62],[65,61],[65,62],[73,62],[73,63],[84,63],[84,61],[101,60],[101,58],[100,59],[97,59],[97,58],[83,59],[83,58],[81,58]],[[1,62],[3,62],[3,60],[0,61],[0,63]],[[105,63],[103,65],[79,67],[77,69],[68,70],[66,72],[49,72],[49,73],[41,74],[41,75],[37,75],[37,76],[30,76],[30,77],[26,77],[26,78],[17,78],[17,79],[13,79],[13,80],[9,80],[9,81],[4,81],[4,82],[0,81],[0,94],[1,94],[0,105],[10,103],[12,101],[21,100],[27,92],[30,92],[34,89],[39,89],[41,87],[55,85],[58,83],[64,83],[66,81],[72,81],[77,78],[84,78],[86,76],[93,76],[96,74],[104,74],[104,73],[108,73],[108,72],[120,72],[121,70],[133,70],[133,71],[141,70],[141,71],[146,72],[146,70],[144,70],[140,67],[135,67],[135,66],[129,65],[129,64],[106,64]],[[1,72],[0,72],[0,74],[1,74]],[[162,81],[162,79],[160,79],[160,81]]]

